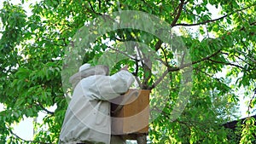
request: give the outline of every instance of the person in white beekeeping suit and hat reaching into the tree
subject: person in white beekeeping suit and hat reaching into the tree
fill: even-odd
[[[110,100],[125,94],[134,78],[121,69],[108,76],[108,66],[80,66],[70,82],[73,97],[67,107],[59,144],[121,144],[119,136],[111,136]]]

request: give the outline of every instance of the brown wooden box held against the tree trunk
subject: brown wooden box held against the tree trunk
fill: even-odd
[[[130,89],[111,101],[112,135],[133,140],[148,133],[149,94],[147,89]]]

